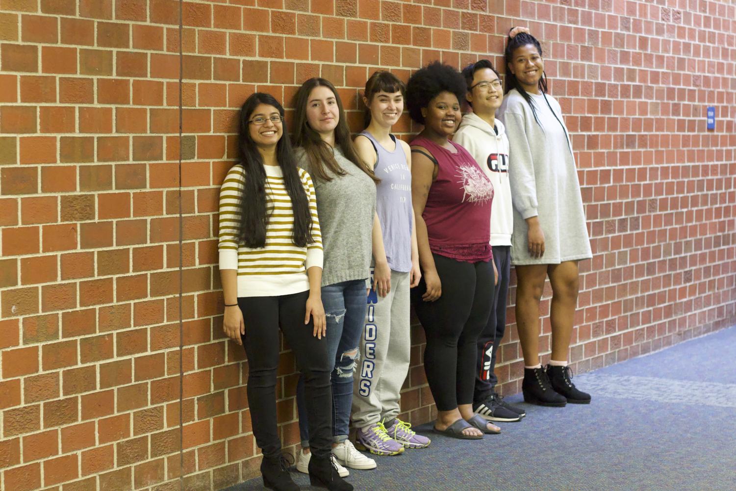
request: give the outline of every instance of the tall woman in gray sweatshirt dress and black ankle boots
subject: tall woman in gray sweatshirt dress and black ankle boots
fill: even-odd
[[[512,258],[516,319],[524,356],[524,400],[542,406],[590,403],[576,389],[567,358],[578,300],[578,261],[592,257],[570,134],[547,94],[542,46],[514,29],[506,47],[507,94],[497,117],[506,125],[514,165]],[[518,32],[518,33],[517,33]],[[550,363],[539,363],[539,300],[552,285]]]

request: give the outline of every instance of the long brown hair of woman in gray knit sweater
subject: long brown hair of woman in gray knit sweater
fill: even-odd
[[[363,159],[358,155],[358,151],[353,145],[353,140],[350,138],[350,128],[347,127],[347,121],[345,118],[345,110],[340,100],[340,95],[337,93],[337,89],[329,80],[323,78],[314,77],[306,82],[302,83],[302,86],[297,91],[297,95],[294,96],[294,145],[301,146],[306,152],[309,163],[311,163],[311,176],[314,179],[322,181],[330,181],[332,177],[328,174],[327,169],[330,169],[335,175],[344,176],[345,172],[340,168],[339,163],[335,160],[332,147],[319,136],[315,130],[309,126],[307,121],[307,104],[309,103],[309,94],[315,87],[327,87],[332,91],[337,102],[338,119],[337,126],[335,127],[335,146],[342,150],[342,155],[354,163],[358,169],[368,174],[368,176],[375,182],[379,180],[373,174],[373,171],[366,165]]]

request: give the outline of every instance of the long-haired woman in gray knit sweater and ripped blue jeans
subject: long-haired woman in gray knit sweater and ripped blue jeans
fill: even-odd
[[[370,275],[371,233],[375,219],[375,175],[350,139],[342,101],[334,85],[322,78],[302,84],[294,102],[297,160],[314,179],[316,205],[325,244],[322,303],[327,317],[328,358],[332,367],[333,455],[353,469],[372,469],[375,461],[347,439],[353,403],[353,372],[358,364]],[[322,456],[312,455],[311,429],[304,424],[311,392],[297,384],[302,452],[297,469],[310,473]],[[347,469],[339,468],[343,475]],[[330,487],[342,490],[343,488]]]

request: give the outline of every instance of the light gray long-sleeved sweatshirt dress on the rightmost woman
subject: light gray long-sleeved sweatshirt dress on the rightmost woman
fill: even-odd
[[[559,103],[549,95],[547,101],[541,94],[529,95],[539,124],[516,89],[506,94],[496,112],[506,126],[513,160],[509,166],[514,204],[512,261],[519,265],[559,264],[592,258],[573,149],[567,128],[562,127],[565,121]],[[526,219],[531,216],[539,216],[545,234],[541,258],[529,255]]]

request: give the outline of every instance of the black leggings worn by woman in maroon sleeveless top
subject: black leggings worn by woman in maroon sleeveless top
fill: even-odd
[[[424,370],[439,411],[451,411],[473,403],[478,335],[488,322],[493,295],[490,261],[466,263],[432,254],[442,282],[442,296],[424,302],[422,278],[412,292],[427,336]]]

